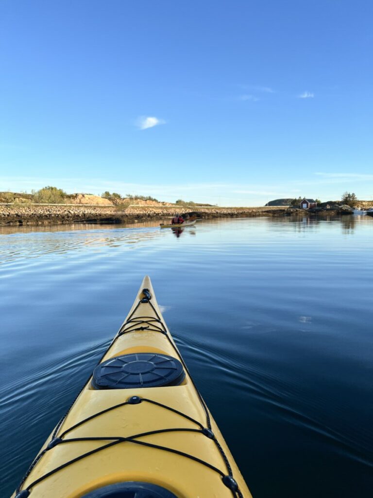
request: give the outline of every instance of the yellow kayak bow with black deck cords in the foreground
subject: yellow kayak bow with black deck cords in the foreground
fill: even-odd
[[[148,276],[12,497],[251,497]]]

